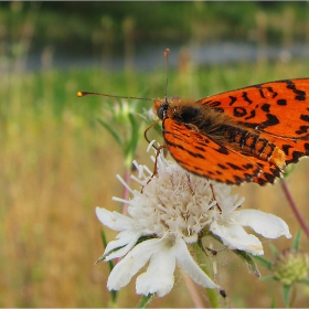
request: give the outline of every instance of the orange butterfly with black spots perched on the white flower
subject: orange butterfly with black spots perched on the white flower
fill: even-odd
[[[309,154],[309,78],[199,100],[154,100],[166,146],[185,170],[227,184],[274,183]]]

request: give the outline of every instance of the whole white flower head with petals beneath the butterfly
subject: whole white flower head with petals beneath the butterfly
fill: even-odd
[[[153,158],[152,158],[153,159]],[[132,199],[116,201],[128,203],[129,216],[97,207],[99,221],[119,231],[103,255],[104,260],[122,259],[111,270],[107,287],[118,290],[126,286],[148,262],[147,270],[137,277],[137,294],[167,295],[174,284],[175,264],[195,283],[205,288],[220,288],[199,267],[188,245],[196,243],[202,231],[211,231],[230,249],[263,254],[259,239],[247,234],[243,226],[252,227],[268,238],[290,237],[287,224],[279,217],[255,210],[237,210],[244,199],[231,195],[231,187],[193,175],[175,162],[158,156],[157,174],[146,166],[138,166],[141,192],[130,191]]]

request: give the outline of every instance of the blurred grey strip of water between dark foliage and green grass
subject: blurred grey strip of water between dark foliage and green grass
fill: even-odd
[[[166,46],[166,45],[143,45],[136,49],[135,54],[130,58],[131,66],[136,71],[151,71],[154,67],[163,66],[163,51],[169,47],[172,52],[169,63],[173,67],[178,64],[180,52],[185,51],[194,65],[209,65],[217,63],[231,62],[254,62],[258,58],[281,60],[287,62],[294,57],[309,57],[309,44],[294,44],[289,47],[265,46],[257,47],[247,43],[217,43],[211,45],[185,45],[185,46]],[[175,56],[174,56],[175,55]],[[47,65],[46,60],[47,58]],[[114,55],[102,60],[87,56],[75,56],[74,50],[72,54],[53,53],[50,56],[28,55],[24,68],[25,71],[36,71],[46,68],[46,66],[67,70],[70,67],[87,67],[102,66],[110,71],[121,71],[125,67],[126,57],[124,55]]]

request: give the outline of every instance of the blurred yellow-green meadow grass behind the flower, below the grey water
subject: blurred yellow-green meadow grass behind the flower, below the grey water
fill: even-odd
[[[169,95],[200,98],[249,84],[303,77],[308,76],[307,64],[299,60],[198,70],[183,63],[170,73]],[[120,196],[121,187],[114,175],[122,173],[122,158],[96,121],[97,117],[106,117],[106,99],[81,99],[75,94],[88,89],[163,96],[164,68],[130,76],[97,68],[18,74],[8,71],[7,77],[0,85],[0,306],[106,307],[108,266],[94,265],[103,253],[94,209],[117,209],[111,196]],[[146,146],[141,139],[139,161],[148,162]],[[290,177],[303,214],[308,200],[306,163],[299,163]],[[235,191],[246,196],[247,207],[274,211],[296,232],[297,224],[278,185],[260,189],[246,184]],[[109,239],[113,236],[107,232]],[[285,247],[288,242],[279,239],[277,244]],[[267,244],[265,248],[269,253]],[[280,299],[276,285],[257,281],[232,254],[223,255],[221,262],[220,280],[235,306],[268,307],[273,295]],[[156,299],[152,306],[192,306],[180,276],[177,283],[167,298]],[[131,283],[120,292],[119,306],[136,306],[138,299]],[[299,301],[298,306],[306,305],[305,299]]]

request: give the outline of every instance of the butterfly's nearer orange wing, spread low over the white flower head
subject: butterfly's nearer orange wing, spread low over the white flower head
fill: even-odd
[[[260,173],[263,179],[256,182],[264,184],[280,175],[276,166],[235,152],[209,136],[189,129],[185,124],[166,118],[162,128],[171,156],[190,172],[228,184],[255,181]]]

